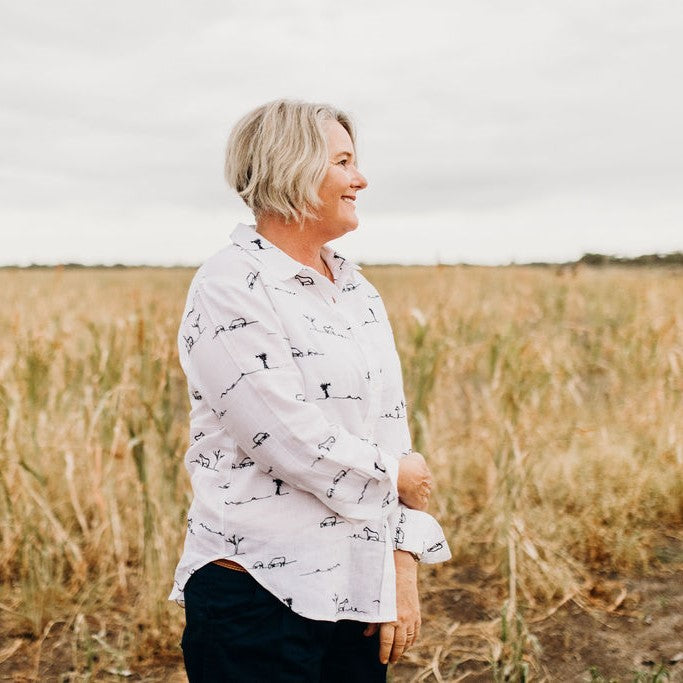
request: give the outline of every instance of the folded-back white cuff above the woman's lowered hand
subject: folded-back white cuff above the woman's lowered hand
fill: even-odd
[[[443,529],[426,512],[399,505],[389,518],[389,524],[393,531],[394,550],[415,553],[425,564],[451,559]]]

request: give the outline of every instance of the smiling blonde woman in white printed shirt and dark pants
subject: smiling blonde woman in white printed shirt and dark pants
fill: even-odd
[[[171,594],[190,681],[384,681],[419,635],[424,512],[387,314],[327,245],[367,181],[346,114],[280,100],[233,129],[256,217],[198,270],[179,331],[194,499]]]

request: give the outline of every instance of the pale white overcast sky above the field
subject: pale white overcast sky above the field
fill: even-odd
[[[200,262],[283,96],[356,120],[352,258],[681,250],[682,82],[678,0],[0,0],[0,263]]]

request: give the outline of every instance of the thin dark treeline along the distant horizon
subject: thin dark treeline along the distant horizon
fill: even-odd
[[[361,265],[368,266],[397,266],[398,263],[362,263]],[[447,266],[450,264],[440,263],[439,266]],[[467,264],[476,265],[476,264]],[[530,266],[683,266],[683,251],[674,251],[670,254],[643,254],[642,256],[614,256],[612,254],[584,254],[577,261],[566,261],[564,263],[548,263],[545,261],[534,261],[533,263],[520,263],[515,265],[530,265]],[[40,270],[59,268],[64,270],[77,270],[85,268],[104,268],[106,270],[126,270],[130,268],[198,268],[197,266],[147,266],[139,265],[125,265],[123,263],[115,263],[113,265],[90,265],[86,266],[82,263],[60,263],[57,265],[45,265],[40,263],[32,263],[29,266],[0,266],[0,270]]]

